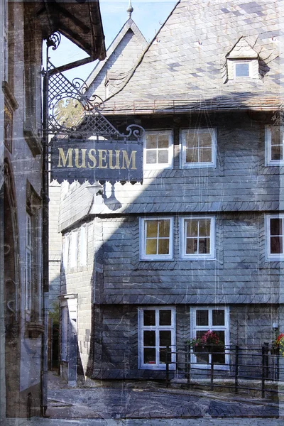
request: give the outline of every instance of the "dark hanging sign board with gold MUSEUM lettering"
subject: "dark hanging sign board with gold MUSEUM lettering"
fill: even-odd
[[[143,143],[97,139],[53,138],[51,180],[142,182]]]

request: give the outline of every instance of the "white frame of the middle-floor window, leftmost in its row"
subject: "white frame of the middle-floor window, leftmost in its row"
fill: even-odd
[[[147,221],[170,221],[169,253],[168,254],[146,254],[146,222]],[[173,260],[173,217],[140,217],[140,258],[143,261],[171,261]]]

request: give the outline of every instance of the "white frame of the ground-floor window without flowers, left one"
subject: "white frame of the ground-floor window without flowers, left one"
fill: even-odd
[[[146,310],[155,310],[155,326],[143,325],[143,312]],[[171,325],[158,325],[159,312],[160,310],[170,310],[171,311]],[[148,306],[148,307],[138,307],[138,368],[143,370],[165,370],[166,364],[158,364],[159,358],[159,342],[158,336],[159,331],[162,330],[170,330],[171,332],[171,348],[172,351],[175,352],[176,349],[176,332],[175,332],[175,307],[171,306]],[[156,362],[155,364],[143,364],[143,331],[155,331],[155,349],[156,349]],[[154,346],[153,346],[154,347]],[[169,369],[175,369],[175,354],[172,354],[172,363],[169,364]]]

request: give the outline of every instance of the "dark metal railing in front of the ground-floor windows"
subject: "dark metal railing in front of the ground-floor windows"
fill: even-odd
[[[199,346],[204,349],[204,346]],[[238,393],[240,389],[246,391],[260,391],[261,398],[266,393],[284,394],[284,362],[277,349],[264,344],[263,346],[207,346],[206,352],[196,350],[195,346],[185,345],[184,349],[173,351],[166,348],[165,383],[168,387],[170,379],[179,376],[187,379],[187,387],[206,386],[210,391],[222,386]],[[200,354],[208,354],[209,362],[197,362]],[[216,359],[222,354],[224,363]],[[283,365],[282,365],[283,364]],[[279,385],[281,389],[278,388]],[[283,389],[283,391],[282,391]]]

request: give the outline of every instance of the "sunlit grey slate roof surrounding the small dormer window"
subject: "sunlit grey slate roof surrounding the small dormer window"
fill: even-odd
[[[284,0],[180,0],[104,114],[278,109],[283,10]],[[241,38],[258,55],[262,76],[226,81],[226,56]]]

